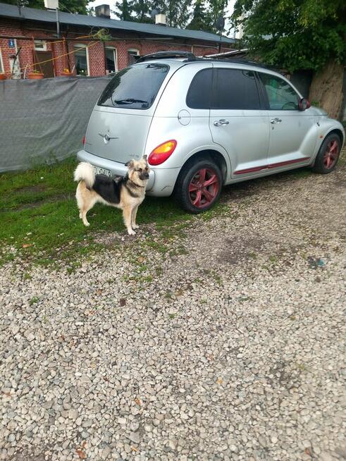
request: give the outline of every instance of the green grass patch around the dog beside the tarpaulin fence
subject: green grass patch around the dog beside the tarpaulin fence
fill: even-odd
[[[68,259],[71,267],[77,266],[78,255],[103,247],[94,241],[95,233],[127,235],[121,211],[111,207],[96,205],[88,214],[91,226],[82,225],[75,203],[73,170],[76,164],[75,159],[68,159],[0,175],[0,246],[6,248],[0,254],[0,262],[20,254],[23,259],[44,266],[61,259]],[[158,229],[164,231],[166,243],[173,238],[171,226],[179,221],[177,231],[183,237],[185,221],[191,218],[169,197],[147,197],[137,214],[140,224],[156,223]],[[154,250],[168,252],[165,243],[155,242],[150,236],[145,240]]]

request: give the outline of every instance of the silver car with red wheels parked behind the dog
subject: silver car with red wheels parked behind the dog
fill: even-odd
[[[192,213],[225,184],[311,166],[330,173],[342,125],[310,106],[289,80],[247,61],[185,52],[144,56],[111,79],[94,106],[78,159],[124,176],[147,154],[147,194],[174,194]]]

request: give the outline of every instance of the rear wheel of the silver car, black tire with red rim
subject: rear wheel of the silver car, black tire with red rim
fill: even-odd
[[[213,161],[199,159],[183,166],[175,184],[175,199],[185,211],[198,214],[218,201],[222,188],[220,168]]]

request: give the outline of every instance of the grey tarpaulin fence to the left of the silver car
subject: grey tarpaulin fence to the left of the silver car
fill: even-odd
[[[107,77],[0,81],[0,172],[77,152],[107,82]]]

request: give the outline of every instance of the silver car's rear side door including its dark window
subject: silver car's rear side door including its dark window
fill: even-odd
[[[269,127],[254,72],[214,64],[211,99],[211,135],[230,156],[232,178],[258,174],[267,164]]]

